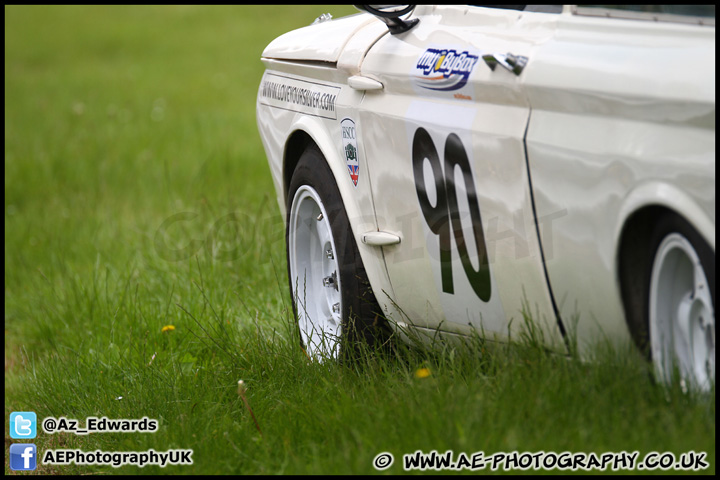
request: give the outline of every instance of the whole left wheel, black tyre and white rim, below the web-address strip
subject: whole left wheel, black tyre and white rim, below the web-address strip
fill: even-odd
[[[386,323],[335,179],[314,145],[300,157],[287,198],[288,277],[306,353],[338,359],[359,343],[381,341]]]

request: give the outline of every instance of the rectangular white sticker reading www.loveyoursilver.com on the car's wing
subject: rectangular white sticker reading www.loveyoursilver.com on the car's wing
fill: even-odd
[[[337,119],[340,87],[266,73],[260,83],[260,103],[292,112]]]

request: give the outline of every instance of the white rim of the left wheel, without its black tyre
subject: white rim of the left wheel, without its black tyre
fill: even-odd
[[[306,352],[318,361],[337,358],[342,333],[337,250],[325,207],[308,185],[295,192],[290,207],[288,249],[292,295]]]

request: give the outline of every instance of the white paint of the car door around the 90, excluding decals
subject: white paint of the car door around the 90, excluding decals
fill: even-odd
[[[432,10],[432,15],[425,15],[402,38],[383,37],[362,65],[363,75],[385,85],[381,92],[366,94],[359,116],[371,159],[378,228],[404,239],[399,245],[383,248],[394,300],[418,326],[455,333],[468,333],[471,326],[499,340],[517,336],[527,304],[527,313],[542,327],[548,344],[563,348],[533,223],[523,147],[530,108],[519,80],[475,65],[468,86],[459,90],[472,101],[458,101],[452,93],[421,89],[409,81],[418,58],[429,46],[456,46],[458,51],[470,49],[478,54],[497,49],[529,55],[534,40],[552,34],[546,22],[557,19],[541,15],[534,20],[534,35],[529,36],[525,23],[513,27],[507,13],[499,10],[418,7],[418,15],[426,10]],[[439,247],[418,209],[415,179],[408,167],[412,134],[418,127],[430,132],[441,157],[445,138],[451,133],[459,135],[472,157],[492,279],[488,301],[472,291],[455,254],[451,262],[454,292],[442,289]],[[387,132],[397,132],[397,137],[391,139]],[[467,210],[464,213],[469,215]],[[463,237],[471,237],[467,224],[464,229]],[[454,238],[452,245],[455,251]],[[477,255],[470,258],[477,267]]]

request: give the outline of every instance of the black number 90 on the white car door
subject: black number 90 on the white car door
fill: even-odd
[[[427,159],[432,168],[435,183],[436,202],[433,206],[428,196],[424,171],[424,162]],[[484,302],[490,300],[490,267],[488,265],[487,250],[485,248],[485,235],[483,234],[480,207],[475,183],[473,182],[470,162],[460,137],[451,133],[445,141],[444,162],[440,161],[435,144],[430,134],[424,128],[415,131],[412,145],[413,174],[415,176],[415,189],[420,209],[430,230],[439,237],[440,243],[440,271],[442,290],[454,294],[452,275],[452,252],[450,235],[454,235],[458,255],[462,262],[465,275],[477,296]],[[444,168],[443,168],[444,163]],[[465,242],[460,211],[458,208],[457,190],[455,186],[455,167],[460,167],[462,177],[465,179],[465,191],[470,208],[472,232],[475,237],[477,249],[478,269],[475,270],[470,262],[468,246]],[[432,184],[432,182],[430,183]]]

